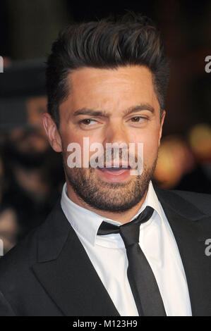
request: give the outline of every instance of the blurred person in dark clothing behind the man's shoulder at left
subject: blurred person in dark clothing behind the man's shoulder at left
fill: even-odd
[[[4,146],[6,176],[9,178],[4,203],[10,202],[18,213],[21,237],[47,216],[51,200],[47,172],[48,144],[35,127],[8,132]],[[38,223],[38,224],[37,224]]]

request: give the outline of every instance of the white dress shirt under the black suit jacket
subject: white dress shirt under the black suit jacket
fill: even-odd
[[[150,220],[140,225],[139,244],[157,280],[167,316],[192,316],[179,249],[152,182],[143,205],[131,220],[146,206],[154,208],[155,211]],[[121,236],[119,233],[97,235],[103,220],[114,225],[121,223],[75,204],[66,194],[66,183],[61,196],[61,208],[83,244],[120,316],[138,316],[128,282],[128,258]]]

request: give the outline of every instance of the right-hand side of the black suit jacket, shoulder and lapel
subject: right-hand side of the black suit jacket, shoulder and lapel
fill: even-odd
[[[193,316],[211,316],[211,261],[205,254],[205,231],[211,218],[177,194],[156,188],[186,273]]]

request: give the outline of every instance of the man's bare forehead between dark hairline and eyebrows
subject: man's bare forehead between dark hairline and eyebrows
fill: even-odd
[[[65,104],[107,109],[147,103],[159,108],[151,71],[140,65],[117,69],[80,68],[68,75],[70,93]],[[61,108],[62,105],[61,105]]]

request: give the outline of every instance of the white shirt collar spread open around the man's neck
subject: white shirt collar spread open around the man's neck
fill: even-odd
[[[76,233],[78,233],[78,235],[80,235],[80,237],[83,237],[83,239],[85,239],[86,241],[90,242],[90,244],[92,244],[93,246],[95,246],[97,230],[99,229],[103,220],[114,225],[121,225],[121,223],[116,222],[115,220],[111,220],[110,218],[104,218],[103,216],[100,216],[93,211],[90,211],[86,208],[79,206],[78,204],[75,204],[71,199],[68,198],[66,192],[67,191],[65,183],[61,194],[61,208],[64,211],[68,222],[71,223],[73,229],[76,230]],[[152,207],[155,212],[158,213],[159,217],[162,218],[159,201],[157,199],[157,195],[151,181],[143,205],[141,206],[138,213],[136,213],[131,220],[136,218],[146,206]],[[146,223],[143,223],[141,226],[148,226],[150,225],[151,221],[152,219],[147,221]]]

